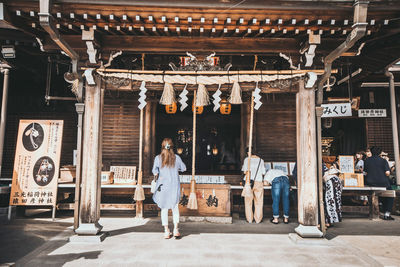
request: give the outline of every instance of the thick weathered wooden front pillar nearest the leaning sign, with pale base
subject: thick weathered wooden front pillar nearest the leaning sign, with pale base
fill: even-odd
[[[95,85],[86,83],[85,115],[82,147],[82,192],[80,203],[80,225],[75,232],[79,235],[96,235],[102,226],[100,218],[101,194],[101,79]]]

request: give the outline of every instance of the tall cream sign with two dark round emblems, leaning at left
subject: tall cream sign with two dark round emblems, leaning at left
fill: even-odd
[[[55,206],[60,168],[62,120],[21,120],[10,205]]]

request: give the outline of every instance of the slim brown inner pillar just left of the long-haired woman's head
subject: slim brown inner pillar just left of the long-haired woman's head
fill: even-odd
[[[148,102],[144,110],[144,143],[143,143],[143,178],[144,181],[150,176],[151,166],[153,161],[151,159],[151,121],[153,103]]]

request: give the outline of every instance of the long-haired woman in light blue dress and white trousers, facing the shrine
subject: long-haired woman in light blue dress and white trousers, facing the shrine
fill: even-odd
[[[179,173],[186,171],[182,159],[174,153],[170,138],[164,138],[161,144],[161,153],[154,159],[153,174],[157,177],[156,191],[153,200],[161,209],[161,223],[164,226],[164,238],[169,239],[172,234],[168,228],[168,210],[172,210],[175,238],[179,233],[179,199],[181,196]]]

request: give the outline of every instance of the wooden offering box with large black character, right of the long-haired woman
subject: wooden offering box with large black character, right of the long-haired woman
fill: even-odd
[[[197,210],[187,208],[190,184],[181,184],[179,212],[183,216],[231,216],[231,186],[229,184],[196,184]]]

